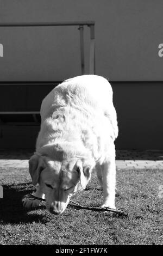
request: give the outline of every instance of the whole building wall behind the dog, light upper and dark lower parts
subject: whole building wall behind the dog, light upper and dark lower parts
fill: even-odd
[[[123,149],[162,149],[162,13],[161,0],[0,1],[0,22],[96,22],[96,74],[111,81],[120,127],[116,145]],[[88,72],[89,28],[84,36]],[[0,82],[62,81],[81,74],[77,27],[0,27],[0,44]],[[41,90],[37,101],[34,87],[14,92],[0,86],[0,108],[39,109],[50,88]],[[32,148],[38,130],[1,125],[0,148]]]

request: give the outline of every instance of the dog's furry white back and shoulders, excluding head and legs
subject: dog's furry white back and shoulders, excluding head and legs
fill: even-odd
[[[61,116],[56,128],[54,114]],[[66,125],[66,129],[64,129]],[[67,126],[69,125],[69,126]],[[109,82],[96,75],[70,78],[55,87],[41,105],[41,130],[36,148],[60,138],[79,141],[93,155],[107,151],[118,134],[117,118]]]

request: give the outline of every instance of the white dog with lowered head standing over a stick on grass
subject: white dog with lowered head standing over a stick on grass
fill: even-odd
[[[41,129],[36,152],[29,160],[34,195],[46,198],[46,208],[61,214],[70,197],[85,189],[93,168],[103,188],[103,205],[115,208],[115,145],[117,117],[109,82],[96,75],[68,79],[41,105]],[[26,208],[40,200],[26,199]]]

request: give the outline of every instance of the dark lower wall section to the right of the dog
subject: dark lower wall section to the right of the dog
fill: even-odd
[[[113,82],[117,148],[162,149],[163,82]]]

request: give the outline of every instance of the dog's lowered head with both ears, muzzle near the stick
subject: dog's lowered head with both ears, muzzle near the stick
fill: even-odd
[[[52,214],[64,212],[73,193],[85,189],[91,170],[91,161],[77,157],[57,161],[34,154],[29,160],[33,185],[39,183],[42,187],[46,208]]]

